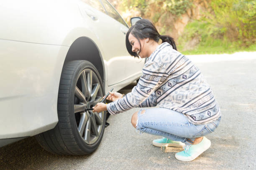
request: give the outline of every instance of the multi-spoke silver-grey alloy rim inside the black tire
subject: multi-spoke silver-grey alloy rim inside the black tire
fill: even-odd
[[[77,130],[88,145],[100,137],[104,122],[104,112],[86,111],[103,99],[100,80],[91,69],[84,69],[78,76],[74,91],[74,114]]]

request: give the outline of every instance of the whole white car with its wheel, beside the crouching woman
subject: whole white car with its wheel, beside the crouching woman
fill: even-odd
[[[106,113],[87,109],[141,76],[128,25],[107,0],[0,3],[0,147],[34,136],[55,154],[100,144]]]

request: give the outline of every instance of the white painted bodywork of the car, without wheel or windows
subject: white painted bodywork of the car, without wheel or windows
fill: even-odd
[[[85,15],[85,7],[98,20]],[[141,76],[144,60],[125,48],[128,28],[80,0],[1,1],[0,23],[0,139],[54,128],[61,69],[79,37],[89,37],[100,51],[105,91]]]

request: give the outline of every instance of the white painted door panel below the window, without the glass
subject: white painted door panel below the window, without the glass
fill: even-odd
[[[95,26],[93,31],[100,42],[104,44],[102,51],[105,53],[104,60],[107,62],[106,68],[108,68],[108,73],[106,76],[108,76],[108,86],[128,79],[131,74],[127,74],[126,69],[133,69],[132,72],[136,72],[136,74],[140,73],[141,66],[136,67],[134,64],[140,63],[142,59],[132,58],[126,50],[123,50],[125,47],[125,35],[128,31],[127,25],[123,25],[117,20],[109,18],[107,14],[85,3],[79,4],[79,8],[83,18],[90,23],[89,25]],[[97,18],[97,20],[90,19],[88,21],[88,13]],[[110,23],[112,24],[110,25]],[[102,31],[102,25],[105,25],[104,31]],[[108,35],[115,35],[115,37]]]

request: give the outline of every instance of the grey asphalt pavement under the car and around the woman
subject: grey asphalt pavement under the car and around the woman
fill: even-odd
[[[212,86],[222,111],[218,129],[207,136],[212,146],[196,160],[181,162],[174,152],[162,153],[151,145],[158,137],[136,133],[130,120],[138,109],[132,109],[110,116],[100,147],[91,155],[52,155],[29,137],[0,148],[0,169],[255,170],[256,52],[190,58]]]

